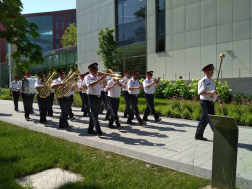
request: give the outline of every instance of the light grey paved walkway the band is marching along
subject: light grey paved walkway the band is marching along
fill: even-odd
[[[162,118],[161,124],[156,124],[152,116],[151,122],[144,127],[138,124],[130,126],[119,113],[120,122],[125,126],[121,131],[107,127],[105,115],[99,116],[102,131],[107,134],[103,138],[88,135],[88,118],[82,117],[80,108],[73,108],[78,117],[74,122],[72,132],[58,128],[60,109],[54,106],[54,117],[48,118],[48,127],[39,124],[38,106],[34,103],[35,114],[26,121],[22,102],[19,102],[19,112],[13,109],[13,102],[0,100],[0,120],[26,127],[53,136],[89,145],[95,148],[112,151],[143,161],[169,167],[201,177],[211,179],[213,133],[208,126],[204,136],[208,141],[194,139],[196,121]],[[136,119],[133,120],[136,123]],[[239,146],[237,162],[237,186],[252,188],[252,128],[239,127]]]

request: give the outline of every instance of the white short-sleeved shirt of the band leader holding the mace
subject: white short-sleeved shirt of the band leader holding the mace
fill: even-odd
[[[198,83],[198,94],[215,90],[215,85],[212,79],[209,79],[207,76],[202,78]],[[208,94],[208,95],[200,95],[201,100],[209,100],[212,101],[214,97],[214,101],[217,98],[217,95]]]

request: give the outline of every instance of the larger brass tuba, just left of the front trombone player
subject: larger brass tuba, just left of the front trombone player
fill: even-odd
[[[67,95],[67,93],[72,89],[73,84],[75,84],[78,81],[78,77],[76,77],[76,76],[78,76],[80,74],[81,73],[79,72],[79,70],[77,68],[70,65],[70,72],[68,73],[67,77],[62,80],[62,82],[66,83],[66,85],[64,87],[59,86],[55,90],[57,97],[59,97],[59,98],[65,97]]]

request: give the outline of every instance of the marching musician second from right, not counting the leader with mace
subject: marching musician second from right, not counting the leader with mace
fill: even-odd
[[[129,88],[129,101],[130,105],[135,113],[135,116],[137,118],[137,121],[140,126],[143,126],[146,121],[142,120],[139,115],[139,110],[137,107],[138,104],[138,94],[139,90],[142,90],[143,86],[138,81],[138,71],[132,72],[132,79],[128,82],[128,88]],[[128,123],[128,122],[127,122]]]

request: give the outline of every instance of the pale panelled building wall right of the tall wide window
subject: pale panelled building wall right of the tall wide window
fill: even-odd
[[[155,51],[155,1],[147,0],[147,70],[174,80],[199,79],[202,67],[221,78],[251,77],[251,0],[166,0],[166,51]],[[217,71],[215,71],[216,77]]]

